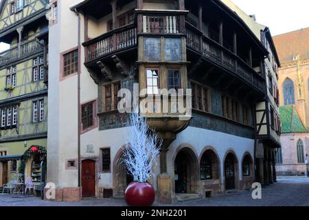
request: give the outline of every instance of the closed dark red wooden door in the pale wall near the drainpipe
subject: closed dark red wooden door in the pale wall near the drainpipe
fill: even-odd
[[[95,162],[87,159],[82,161],[82,197],[95,196]]]

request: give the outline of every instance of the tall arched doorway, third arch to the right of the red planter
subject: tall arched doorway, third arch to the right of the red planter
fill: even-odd
[[[225,157],[225,190],[236,188],[237,159],[233,153],[228,153]]]

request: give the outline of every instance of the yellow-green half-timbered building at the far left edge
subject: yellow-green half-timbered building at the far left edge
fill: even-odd
[[[41,0],[0,3],[0,42],[9,45],[0,53],[0,186],[18,180],[27,148],[47,145],[47,46],[39,38],[48,32],[47,5]],[[38,160],[22,165],[35,184],[41,181]]]

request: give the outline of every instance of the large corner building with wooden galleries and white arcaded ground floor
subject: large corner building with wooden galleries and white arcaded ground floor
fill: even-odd
[[[218,0],[51,4],[57,18],[49,28],[53,104],[47,181],[56,184],[57,201],[124,196],[132,181],[122,164],[130,127],[126,113],[117,110],[117,94],[124,88],[133,91],[135,83],[148,95],[192,89],[190,120],[170,112],[144,114],[163,140],[150,180],[157,201],[251,188],[256,149],[268,143],[259,140],[273,137],[256,113],[264,103],[261,114],[271,121],[264,64],[269,52],[261,29],[250,28]],[[258,140],[257,131],[266,133],[259,132]],[[271,152],[277,139],[273,142]]]

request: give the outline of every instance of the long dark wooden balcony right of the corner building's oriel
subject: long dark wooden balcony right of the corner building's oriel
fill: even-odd
[[[187,23],[187,47],[264,93],[264,78],[242,59]]]

